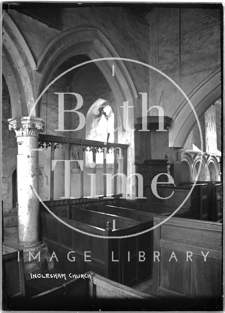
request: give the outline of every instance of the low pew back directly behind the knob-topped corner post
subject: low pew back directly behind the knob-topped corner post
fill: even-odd
[[[132,218],[109,214],[105,212],[96,212],[88,209],[72,209],[71,219],[85,224],[105,228],[107,221],[115,221],[116,228],[126,228],[138,224]]]

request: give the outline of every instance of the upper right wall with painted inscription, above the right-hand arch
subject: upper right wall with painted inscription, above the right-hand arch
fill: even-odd
[[[188,96],[220,69],[219,9],[159,7],[147,15],[146,21],[150,24],[150,65],[167,74]],[[186,110],[181,107],[184,101],[181,92],[153,70],[150,71],[149,99],[151,106],[160,105],[173,122],[179,110]],[[205,105],[206,111],[211,103]],[[157,110],[151,114],[156,115]],[[186,134],[193,126],[189,124]]]

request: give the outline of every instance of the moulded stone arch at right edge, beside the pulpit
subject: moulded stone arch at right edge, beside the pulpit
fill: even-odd
[[[197,116],[201,116],[221,96],[221,71],[215,70],[188,95]],[[186,99],[172,117],[169,147],[184,147],[188,134],[196,123],[194,113]]]

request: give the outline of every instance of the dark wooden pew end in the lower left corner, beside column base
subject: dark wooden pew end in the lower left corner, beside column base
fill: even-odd
[[[9,252],[12,251],[13,252]],[[13,299],[25,296],[23,251],[2,246],[3,304],[8,307]]]

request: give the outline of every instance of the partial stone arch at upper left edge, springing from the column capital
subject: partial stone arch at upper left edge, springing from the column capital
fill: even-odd
[[[37,67],[19,29],[5,11],[3,22],[2,72],[10,92],[12,117],[28,115],[35,102],[31,76]]]

